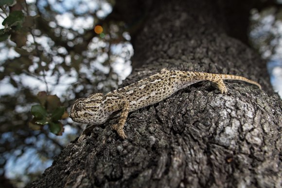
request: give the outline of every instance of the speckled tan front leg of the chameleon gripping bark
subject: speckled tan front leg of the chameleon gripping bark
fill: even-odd
[[[118,135],[120,137],[122,137],[123,139],[126,138],[126,135],[123,131],[123,127],[124,127],[125,121],[127,119],[128,113],[129,113],[129,102],[126,101],[122,104],[122,112],[121,112],[121,116],[119,118],[119,122],[112,126],[112,128],[114,130],[116,130]]]

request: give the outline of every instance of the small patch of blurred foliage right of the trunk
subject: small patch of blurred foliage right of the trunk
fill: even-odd
[[[250,11],[249,39],[264,59],[274,91],[282,98],[282,1],[267,0]]]

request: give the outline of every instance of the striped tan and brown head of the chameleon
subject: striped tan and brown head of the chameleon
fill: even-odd
[[[108,119],[104,113],[103,93],[95,93],[87,98],[77,99],[71,106],[70,118],[75,122],[102,124]]]

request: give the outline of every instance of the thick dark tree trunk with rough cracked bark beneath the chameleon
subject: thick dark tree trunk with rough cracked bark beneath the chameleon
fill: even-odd
[[[268,95],[265,62],[228,35],[227,3],[118,1],[115,11],[137,31],[139,68],[123,85],[167,68],[241,75],[262,90],[242,82],[225,82],[228,94],[209,82],[182,89],[130,113],[125,140],[111,130],[116,120],[95,127],[27,187],[281,187],[282,102]]]

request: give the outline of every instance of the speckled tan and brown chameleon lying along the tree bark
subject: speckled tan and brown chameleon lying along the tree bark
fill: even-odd
[[[163,68],[160,73],[113,90],[106,95],[95,93],[87,98],[77,99],[71,107],[70,118],[80,123],[103,124],[108,119],[119,116],[118,123],[112,125],[112,128],[125,139],[123,127],[129,112],[159,103],[179,89],[200,81],[211,81],[221,94],[227,94],[227,87],[223,80],[244,81],[262,88],[257,82],[242,76]]]

